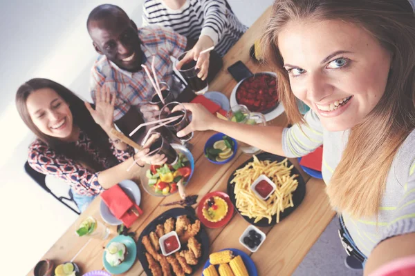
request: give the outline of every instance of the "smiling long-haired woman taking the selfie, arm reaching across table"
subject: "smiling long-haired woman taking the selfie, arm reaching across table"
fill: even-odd
[[[365,273],[415,255],[415,16],[407,0],[277,0],[262,37],[291,128],[221,121],[187,104],[194,130],[300,157],[322,175],[348,253]],[[311,107],[304,117],[296,99]],[[366,262],[367,260],[367,262]]]

